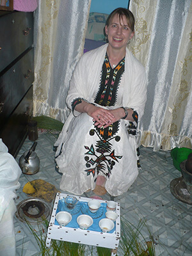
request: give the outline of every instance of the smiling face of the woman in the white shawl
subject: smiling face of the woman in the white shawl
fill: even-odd
[[[116,14],[109,26],[106,26],[106,35],[108,35],[109,45],[115,49],[125,49],[128,41],[134,35],[134,31],[131,31],[127,24],[127,19],[123,16],[119,19]]]

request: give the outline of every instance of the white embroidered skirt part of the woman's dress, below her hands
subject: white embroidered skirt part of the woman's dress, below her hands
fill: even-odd
[[[96,131],[92,117],[81,113],[72,118],[66,134],[62,134],[66,130],[63,128],[55,144],[59,145],[56,163],[63,173],[61,190],[82,195],[88,189],[95,189],[99,164],[109,173],[105,188],[111,196],[122,195],[129,189],[138,176],[138,157],[136,138],[128,134],[125,124],[125,120],[120,120],[116,134],[104,141],[97,132],[90,135],[90,130]],[[105,152],[98,150],[99,143],[106,145]]]

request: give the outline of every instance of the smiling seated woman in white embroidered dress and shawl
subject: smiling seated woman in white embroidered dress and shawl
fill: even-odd
[[[125,193],[138,176],[136,127],[146,100],[145,69],[127,49],[134,16],[117,8],[105,27],[108,44],[86,52],[67,95],[72,113],[56,141],[60,188],[76,195]]]

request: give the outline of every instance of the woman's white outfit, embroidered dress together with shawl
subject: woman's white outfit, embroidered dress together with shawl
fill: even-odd
[[[72,112],[55,143],[60,189],[76,195],[95,189],[97,175],[104,175],[106,190],[118,196],[138,176],[136,126],[146,101],[145,69],[128,49],[112,68],[107,47],[86,52],[77,63],[66,99]],[[131,108],[135,122],[121,119],[98,129],[92,117],[74,110],[82,99],[106,109]]]

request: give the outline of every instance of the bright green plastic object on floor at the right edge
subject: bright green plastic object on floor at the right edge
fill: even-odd
[[[192,152],[191,148],[173,148],[171,156],[173,159],[173,165],[177,170],[180,170],[180,163],[188,159],[189,154]]]

